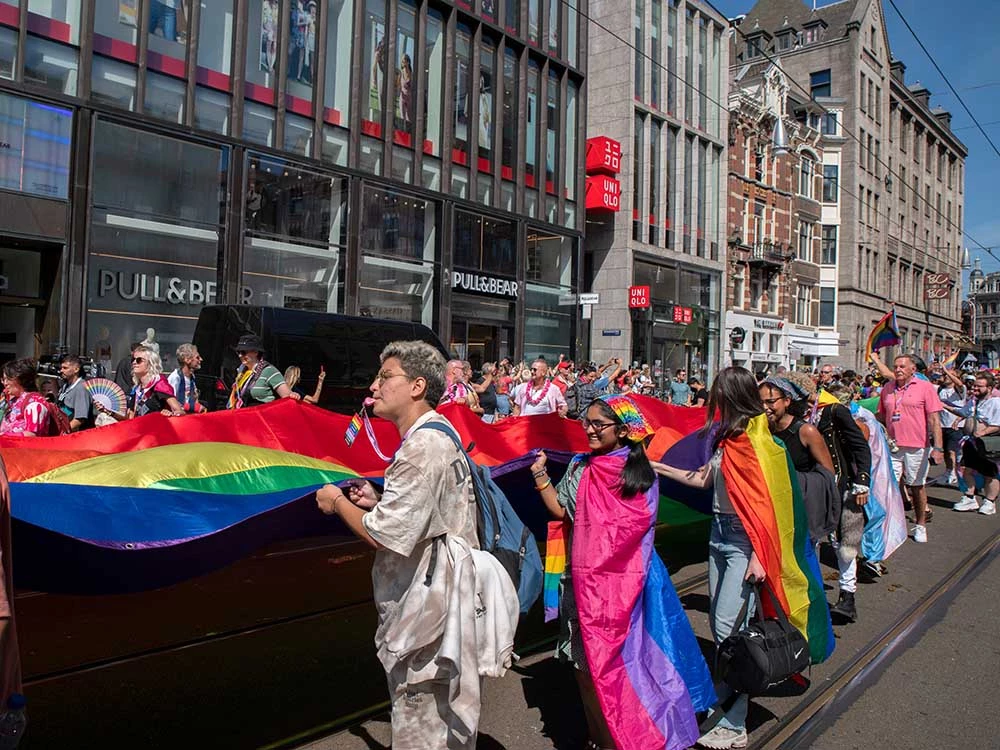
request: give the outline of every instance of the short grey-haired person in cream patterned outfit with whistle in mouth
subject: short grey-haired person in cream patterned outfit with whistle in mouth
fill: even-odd
[[[439,538],[479,546],[472,476],[446,434],[418,429],[429,421],[448,424],[434,411],[445,388],[441,354],[423,342],[400,341],[385,348],[381,361],[370,389],[372,410],[402,438],[386,469],[384,491],[379,496],[365,483],[351,487],[348,496],[326,485],[316,500],[376,549],[375,645],[389,684],[394,750],[471,750],[480,709],[475,623],[447,628],[445,619],[462,616],[437,597],[448,597],[455,569],[453,545],[443,546]],[[465,589],[461,599],[475,601],[471,570],[451,581]],[[421,602],[427,605],[415,606]]]

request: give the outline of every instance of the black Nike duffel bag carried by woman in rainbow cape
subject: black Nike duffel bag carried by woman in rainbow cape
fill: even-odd
[[[762,590],[771,597],[777,618],[766,619]],[[716,675],[738,693],[763,695],[769,688],[799,674],[809,666],[809,643],[785,616],[767,581],[755,587],[757,617],[735,632],[747,615],[749,598],[736,618],[733,634],[719,644]]]

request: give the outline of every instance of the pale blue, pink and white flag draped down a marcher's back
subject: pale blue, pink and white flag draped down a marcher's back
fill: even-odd
[[[861,535],[861,554],[872,562],[881,562],[906,541],[906,511],[903,496],[892,471],[885,428],[875,415],[857,401],[851,414],[868,427],[868,447],[872,452],[871,481],[865,504],[865,530]]]

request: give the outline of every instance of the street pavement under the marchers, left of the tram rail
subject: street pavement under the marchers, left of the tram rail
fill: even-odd
[[[859,621],[834,626],[836,650],[828,662],[813,667],[813,686],[848,663],[1000,528],[1000,516],[952,511],[952,503],[959,498],[956,490],[931,487],[929,495],[935,510],[928,527],[929,542],[908,541],[887,561],[888,575],[862,582],[857,594]],[[827,598],[832,602],[837,594],[836,564],[828,554],[824,554],[823,563]],[[687,580],[701,570],[704,565],[685,568],[674,581]],[[682,602],[703,648],[707,648],[711,636],[705,588],[683,596]],[[801,695],[755,699],[748,717],[751,743],[755,730],[766,729],[801,700]],[[573,675],[548,652],[526,658],[502,679],[487,681],[479,750],[578,750],[585,739],[583,709]],[[389,740],[388,716],[383,715],[299,750],[388,750]]]

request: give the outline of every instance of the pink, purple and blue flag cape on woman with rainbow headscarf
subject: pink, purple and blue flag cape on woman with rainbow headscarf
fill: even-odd
[[[573,593],[587,665],[621,750],[680,750],[698,739],[712,680],[653,549],[658,489],[623,498],[628,449],[588,456],[573,521]]]

